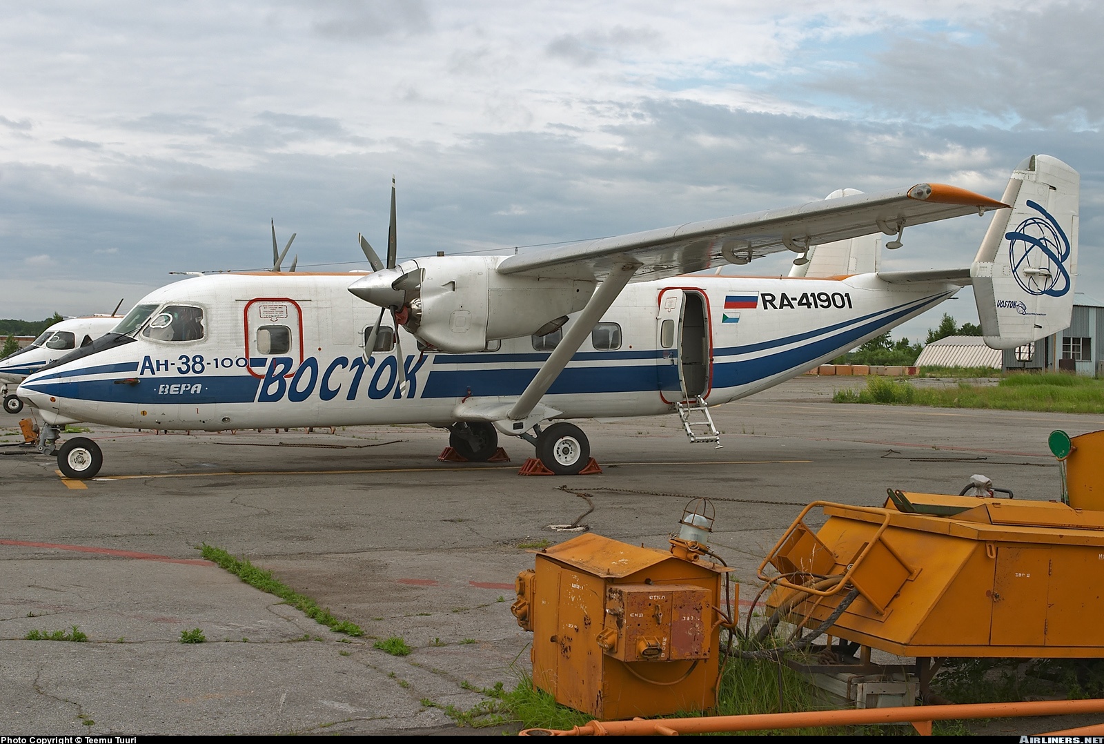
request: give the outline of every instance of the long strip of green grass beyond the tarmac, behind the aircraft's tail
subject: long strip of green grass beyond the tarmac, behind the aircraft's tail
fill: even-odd
[[[1010,374],[996,385],[960,382],[954,387],[916,387],[904,380],[868,378],[866,390],[839,390],[835,403],[928,405],[1057,413],[1104,413],[1104,380],[1062,372]]]

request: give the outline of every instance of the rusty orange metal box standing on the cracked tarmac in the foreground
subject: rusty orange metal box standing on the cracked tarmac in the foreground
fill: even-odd
[[[715,708],[726,572],[596,534],[535,553],[512,606],[533,685],[604,720]]]

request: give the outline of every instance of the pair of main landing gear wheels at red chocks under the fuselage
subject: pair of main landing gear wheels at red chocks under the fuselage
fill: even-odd
[[[457,422],[448,432],[448,446],[469,463],[486,463],[498,451],[498,429],[488,422]],[[533,434],[521,438],[533,445],[541,464],[558,476],[578,475],[591,461],[591,443],[574,424],[534,426]]]

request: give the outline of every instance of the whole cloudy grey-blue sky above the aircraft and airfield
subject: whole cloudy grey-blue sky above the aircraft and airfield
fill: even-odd
[[[1078,289],[1104,298],[1101,7],[769,4],[0,0],[0,317],[264,267],[269,220],[300,267],[363,267],[392,174],[403,258],[842,187],[999,198],[1033,152],[1081,172]],[[968,265],[986,223],[914,228],[884,263]],[[896,336],[944,310],[976,320],[966,293]]]

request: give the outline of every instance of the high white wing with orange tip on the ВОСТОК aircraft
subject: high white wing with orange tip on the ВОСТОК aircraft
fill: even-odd
[[[639,263],[634,281],[700,272],[719,262],[746,264],[789,249],[883,232],[896,235],[906,225],[981,214],[1008,206],[995,199],[942,183],[818,200],[778,210],[691,222],[641,233],[603,237],[506,258],[500,274],[531,277],[602,279],[625,259]]]

